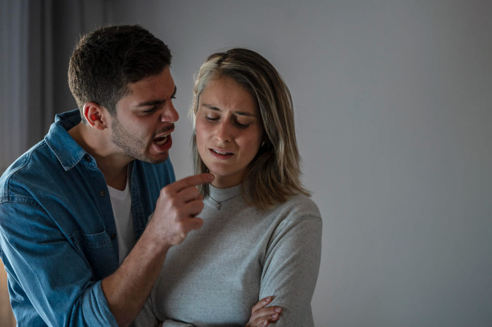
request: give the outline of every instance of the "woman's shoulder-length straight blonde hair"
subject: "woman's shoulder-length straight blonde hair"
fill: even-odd
[[[193,119],[200,95],[207,85],[222,76],[234,79],[256,99],[264,127],[263,143],[249,163],[243,179],[243,197],[257,208],[272,208],[289,196],[309,192],[301,183],[300,156],[297,149],[294,109],[290,91],[274,66],[260,54],[243,48],[209,56],[195,76],[193,101],[189,114]],[[196,174],[208,172],[196,146],[196,133],[191,139]],[[208,194],[208,184],[200,193]]]

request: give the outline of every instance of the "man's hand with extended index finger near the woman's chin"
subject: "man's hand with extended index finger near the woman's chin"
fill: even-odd
[[[180,179],[160,191],[155,210],[147,230],[154,233],[156,241],[170,247],[180,244],[186,235],[202,227],[203,220],[197,218],[203,209],[203,197],[197,185],[209,183],[212,174],[200,174]]]

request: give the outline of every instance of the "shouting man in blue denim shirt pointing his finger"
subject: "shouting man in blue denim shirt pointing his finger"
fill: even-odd
[[[95,30],[76,46],[68,80],[80,112],[57,115],[0,178],[0,257],[18,326],[128,326],[167,250],[202,226],[195,186],[213,177],[175,182],[168,159],[179,118],[170,63],[139,26]]]

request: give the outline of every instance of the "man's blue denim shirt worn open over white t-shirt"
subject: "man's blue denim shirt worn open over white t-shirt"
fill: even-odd
[[[44,140],[0,178],[0,258],[17,326],[118,326],[101,279],[119,267],[106,181],[67,130],[78,110],[57,115]],[[134,160],[132,214],[138,239],[160,189],[175,181],[170,160]]]

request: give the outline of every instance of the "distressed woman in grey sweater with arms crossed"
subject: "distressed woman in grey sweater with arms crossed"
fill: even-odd
[[[267,59],[231,49],[201,66],[190,114],[195,172],[215,176],[200,187],[204,226],[168,252],[136,325],[313,326],[322,223],[289,90]]]

